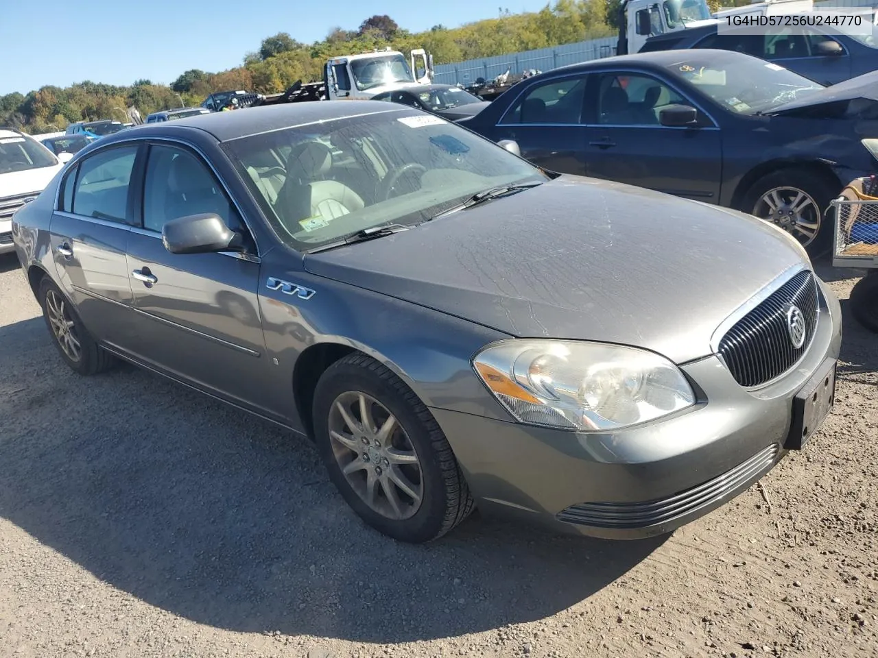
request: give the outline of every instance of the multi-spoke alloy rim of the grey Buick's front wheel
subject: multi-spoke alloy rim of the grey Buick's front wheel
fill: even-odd
[[[399,420],[374,397],[347,391],[329,411],[335,461],[351,489],[387,519],[409,519],[424,495],[421,462]]]

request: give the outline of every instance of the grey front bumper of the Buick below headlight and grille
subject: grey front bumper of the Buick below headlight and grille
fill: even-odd
[[[820,288],[817,330],[795,368],[745,390],[716,356],[690,362],[682,369],[701,404],[659,422],[587,434],[431,411],[483,513],[608,539],[669,533],[749,488],[788,453],[793,398],[841,345],[838,299]]]

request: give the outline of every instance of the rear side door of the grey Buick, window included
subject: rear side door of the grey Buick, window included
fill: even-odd
[[[132,316],[125,252],[138,148],[104,148],[70,169],[50,229],[61,288],[89,332],[113,345],[126,341]]]

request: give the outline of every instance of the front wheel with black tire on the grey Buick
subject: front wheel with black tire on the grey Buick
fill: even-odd
[[[359,424],[360,397],[370,410],[371,427],[365,430]],[[339,411],[342,407],[350,424]],[[385,426],[389,415],[396,424]],[[330,479],[356,514],[378,532],[423,543],[442,537],[470,515],[470,490],[435,418],[378,361],[349,354],[327,368],[314,390],[313,418],[314,438]],[[393,431],[382,440],[376,429],[387,426]],[[342,468],[349,468],[348,476]]]

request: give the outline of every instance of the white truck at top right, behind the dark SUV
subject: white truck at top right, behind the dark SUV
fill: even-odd
[[[813,10],[813,0],[762,0],[714,14],[706,0],[623,0],[616,54],[638,53],[652,36],[718,23],[730,15],[775,16]]]

